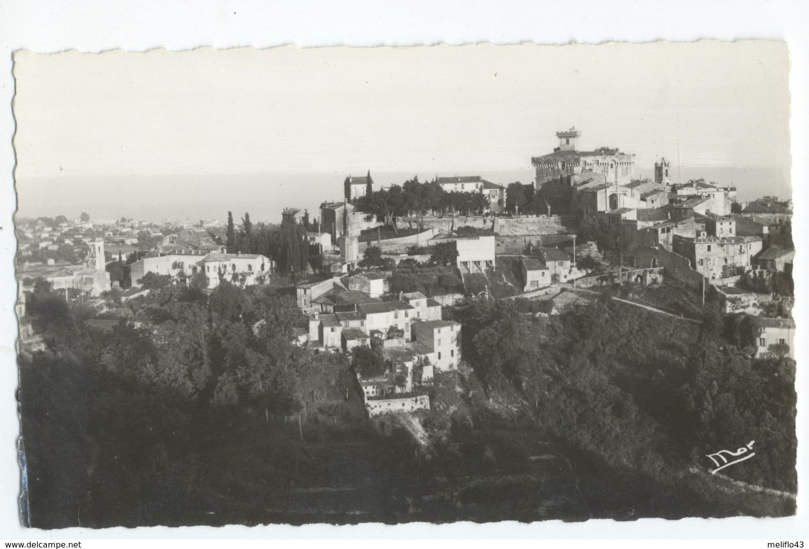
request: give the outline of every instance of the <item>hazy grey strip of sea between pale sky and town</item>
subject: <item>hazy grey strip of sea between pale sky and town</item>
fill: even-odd
[[[791,196],[789,171],[770,167],[674,167],[672,182],[705,178],[735,185],[739,201],[759,196]],[[308,209],[319,217],[324,201],[341,201],[343,181],[358,173],[296,173],[249,175],[109,175],[21,178],[16,182],[17,217],[78,217],[87,212],[95,220],[121,217],[161,222],[238,221],[250,213],[253,222],[280,222],[282,209]],[[375,188],[402,184],[413,176],[428,181],[438,176],[481,175],[493,183],[523,184],[534,180],[532,167],[502,171],[372,171]],[[636,177],[651,177],[650,168],[636,169]]]

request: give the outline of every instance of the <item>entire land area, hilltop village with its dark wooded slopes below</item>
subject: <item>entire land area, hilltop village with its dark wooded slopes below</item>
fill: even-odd
[[[34,526],[794,512],[791,202],[557,139],[280,223],[18,219]]]

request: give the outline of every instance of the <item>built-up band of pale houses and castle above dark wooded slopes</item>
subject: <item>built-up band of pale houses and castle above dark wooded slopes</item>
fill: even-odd
[[[654,179],[637,179],[633,154],[581,150],[580,137],[558,132],[557,148],[531,159],[533,184],[456,175],[379,188],[370,171],[350,175],[318,217],[283,209],[277,242],[264,248],[274,256],[253,253],[249,213],[238,227],[232,216],[227,225],[23,220],[20,351],[45,349],[25,306],[38,283],[95,310],[89,329],[125,321],[158,339],[159,320],[121,303],[162,285],[286,289],[301,314],[294,344],[354,357],[377,416],[429,409],[434,375],[466,367],[463,325],[446,307],[527,299],[536,315],[559,315],[628,286],[625,301],[677,321],[718,300],[752,319],[756,356],[793,357],[791,201],[740,203],[732,185],[705,179],[673,184],[666,158]]]

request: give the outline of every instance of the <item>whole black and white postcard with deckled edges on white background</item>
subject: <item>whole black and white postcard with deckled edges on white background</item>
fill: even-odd
[[[23,524],[794,514],[789,67],[15,53]]]

